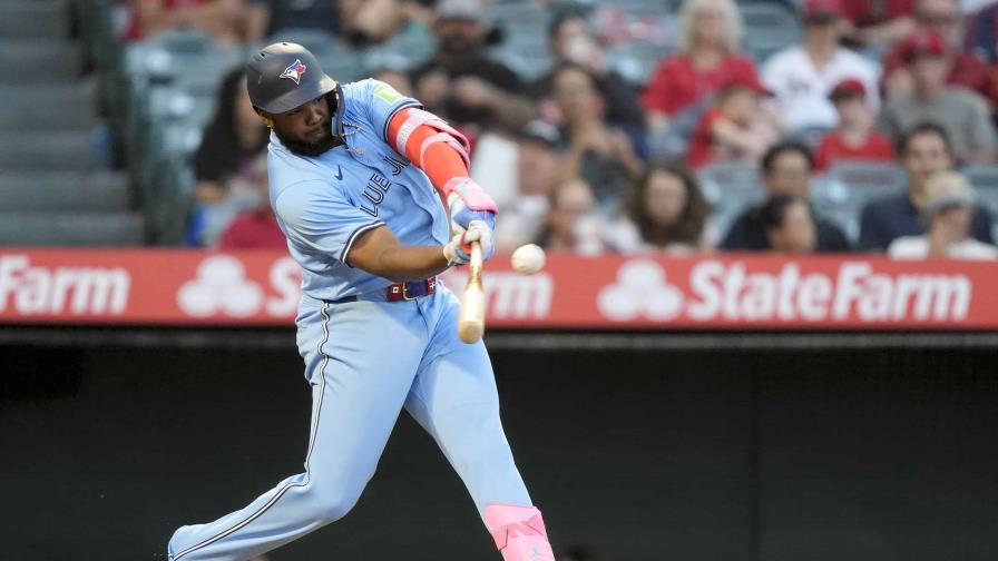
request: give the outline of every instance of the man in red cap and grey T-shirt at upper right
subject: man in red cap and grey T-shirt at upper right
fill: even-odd
[[[941,125],[959,164],[988,164],[995,159],[995,129],[988,104],[977,94],[946,83],[947,47],[935,32],[906,40],[904,62],[911,91],[897,91],[880,114],[878,127],[897,141],[919,122]]]

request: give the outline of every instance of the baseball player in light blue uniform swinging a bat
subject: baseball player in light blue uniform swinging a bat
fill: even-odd
[[[305,471],[239,511],[182,526],[169,559],[245,560],[343,518],[405,409],[463,480],[503,559],[552,561],[485,345],[457,337],[460,303],[437,279],[468,262],[471,242],[493,252],[497,208],[468,177],[467,140],[387,83],[336,83],[294,43],[254,55],[247,88],[272,129],[271,206],[303,269]]]

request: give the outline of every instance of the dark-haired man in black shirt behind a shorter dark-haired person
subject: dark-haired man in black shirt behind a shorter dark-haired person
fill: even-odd
[[[770,148],[762,157],[762,184],[769,198],[780,196],[806,200],[811,193],[811,175],[814,157],[800,142],[785,141]],[[766,220],[765,205],[749,208],[732,224],[721,243],[728,252],[765,252],[772,248],[769,237],[772,224]],[[849,240],[842,229],[831,222],[809,213],[814,223],[815,244],[819,253],[849,252]]]

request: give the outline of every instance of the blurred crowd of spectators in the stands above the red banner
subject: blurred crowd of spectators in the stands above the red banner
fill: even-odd
[[[998,253],[991,217],[957,171],[996,158],[998,9],[988,2],[972,12],[958,0],[781,3],[796,10],[801,40],[759,60],[741,50],[734,0],[685,0],[673,14],[676,47],[645,83],[611,63],[594,2],[524,0],[552,14],[554,65],[518,75],[490,53],[502,22],[488,19],[488,3],[131,0],[124,37],[190,27],[254,43],[304,27],[364,47],[430,33],[428,60],[373,76],[472,140],[472,176],[501,209],[501,249]],[[193,245],[282,245],[264,196],[266,130],[244,83],[239,70],[225,79],[195,158]],[[900,167],[908,189],[867,204],[851,238],[811,189],[854,161]],[[699,174],[727,164],[756,166],[764,198],[722,224]]]

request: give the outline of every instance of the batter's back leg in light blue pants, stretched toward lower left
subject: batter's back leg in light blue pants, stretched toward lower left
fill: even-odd
[[[237,561],[277,548],[345,515],[373,475],[425,347],[425,324],[414,305],[401,304],[329,305],[315,315],[299,337],[313,395],[305,472],[239,511],[177,530],[174,561]]]

